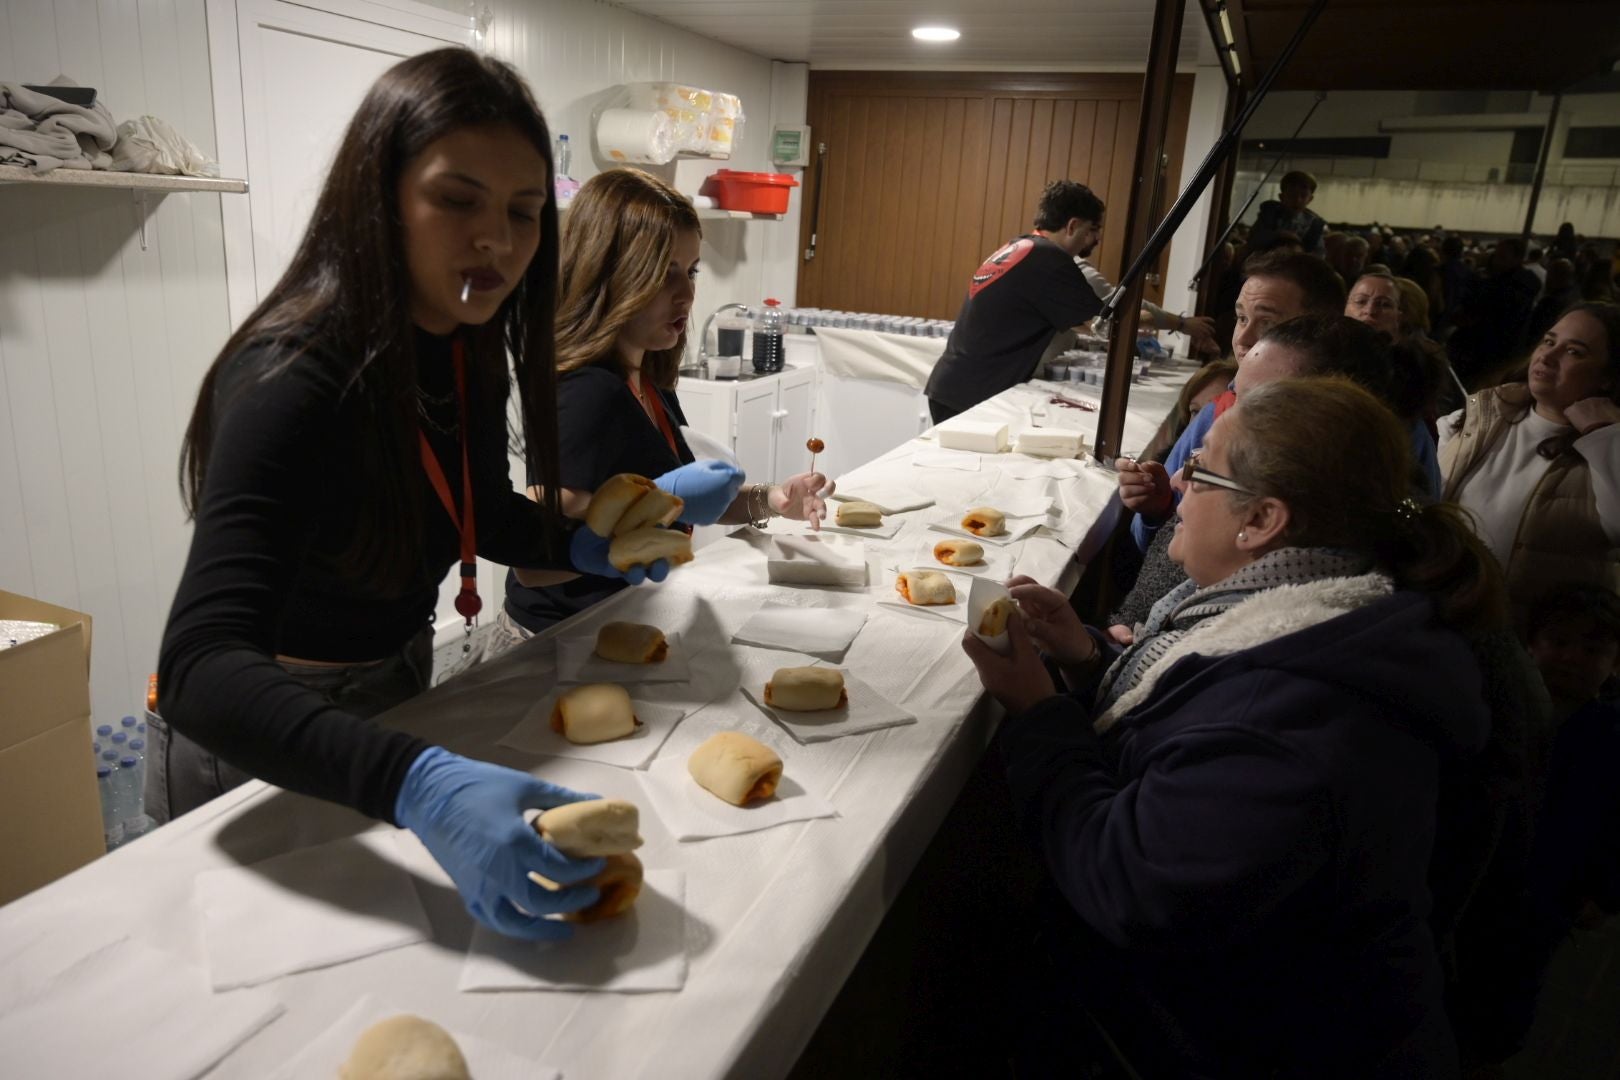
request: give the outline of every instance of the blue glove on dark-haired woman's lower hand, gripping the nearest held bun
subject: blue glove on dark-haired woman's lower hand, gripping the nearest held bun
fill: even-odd
[[[573,928],[541,915],[590,907],[596,887],[551,892],[530,881],[528,871],[572,886],[601,871],[603,860],[569,858],[539,839],[523,821],[523,811],[585,798],[595,797],[431,746],[405,774],[394,819],[415,832],[444,866],[473,918],[509,938],[554,941],[570,936]]]

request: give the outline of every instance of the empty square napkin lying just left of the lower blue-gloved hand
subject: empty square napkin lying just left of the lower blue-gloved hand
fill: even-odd
[[[347,963],[433,931],[392,829],[374,829],[194,881],[214,989]]]

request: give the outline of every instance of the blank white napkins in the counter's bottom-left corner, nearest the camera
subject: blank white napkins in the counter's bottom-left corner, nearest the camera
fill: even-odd
[[[118,941],[0,1014],[0,1072],[191,1080],[279,1015],[282,1004],[269,991],[215,994],[201,968]]]

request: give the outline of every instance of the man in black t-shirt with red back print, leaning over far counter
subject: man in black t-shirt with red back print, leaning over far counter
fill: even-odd
[[[1103,233],[1103,202],[1072,180],[1040,196],[1035,228],[985,259],[923,390],[940,423],[1029,381],[1058,330],[1102,311],[1076,257]]]

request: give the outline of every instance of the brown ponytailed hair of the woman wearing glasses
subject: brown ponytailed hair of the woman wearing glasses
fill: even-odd
[[[1507,625],[1502,570],[1460,507],[1411,499],[1411,439],[1382,402],[1338,376],[1281,379],[1233,415],[1228,468],[1254,495],[1288,504],[1285,542],[1372,555],[1468,636]]]

